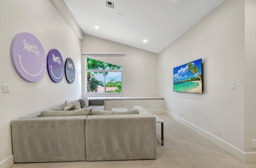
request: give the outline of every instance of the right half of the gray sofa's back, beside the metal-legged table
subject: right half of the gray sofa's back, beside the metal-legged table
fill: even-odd
[[[85,120],[86,161],[156,159],[155,117],[89,115]]]

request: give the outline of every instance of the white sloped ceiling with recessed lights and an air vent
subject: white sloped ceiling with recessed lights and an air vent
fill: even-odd
[[[223,1],[114,0],[110,1],[114,2],[113,9],[106,6],[106,0],[64,0],[84,33],[154,53]]]

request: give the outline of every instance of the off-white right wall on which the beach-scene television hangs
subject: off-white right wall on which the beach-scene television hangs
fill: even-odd
[[[245,82],[250,83],[244,78],[252,78],[252,69],[248,74],[244,70],[244,16],[244,1],[226,0],[158,55],[158,93],[165,98],[166,111],[176,118],[182,112],[183,121],[224,141],[240,153],[233,153],[236,156],[243,155],[244,121],[249,117],[244,118],[244,97],[252,96],[244,96]],[[200,58],[203,94],[173,92],[173,68]],[[236,90],[231,90],[231,82],[236,82]]]

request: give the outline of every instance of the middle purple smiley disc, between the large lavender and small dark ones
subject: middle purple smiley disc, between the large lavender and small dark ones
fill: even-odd
[[[59,83],[64,76],[64,61],[57,49],[51,49],[47,55],[47,70],[50,78]]]

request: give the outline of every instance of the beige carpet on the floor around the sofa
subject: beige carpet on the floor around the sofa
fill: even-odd
[[[157,147],[156,160],[26,163],[11,168],[256,168],[166,114],[157,115],[164,120],[164,146]],[[160,137],[160,124],[157,129]]]

